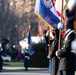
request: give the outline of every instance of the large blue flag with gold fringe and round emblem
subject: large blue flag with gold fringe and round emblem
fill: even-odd
[[[35,14],[51,28],[57,28],[60,22],[51,0],[36,0]]]

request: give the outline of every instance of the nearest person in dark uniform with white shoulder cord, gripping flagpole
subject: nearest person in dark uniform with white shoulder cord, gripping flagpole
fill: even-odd
[[[56,51],[56,56],[60,57],[58,75],[74,75],[75,72],[75,54],[71,49],[71,43],[75,39],[74,20],[76,14],[76,3],[71,10],[66,10],[67,24],[66,33],[62,37],[61,49]],[[76,20],[75,20],[76,22]]]

